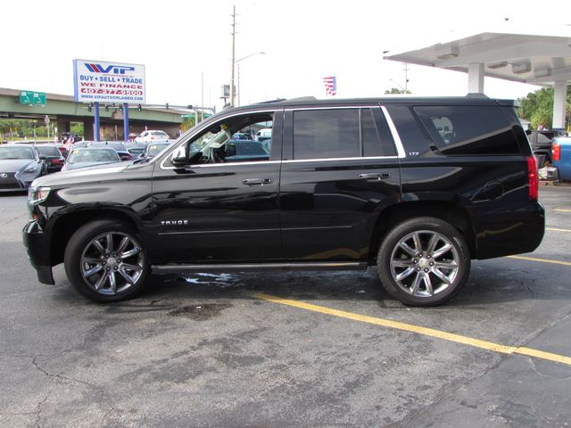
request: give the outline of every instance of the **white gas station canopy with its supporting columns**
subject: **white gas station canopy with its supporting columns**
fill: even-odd
[[[565,127],[565,99],[571,83],[571,27],[550,35],[484,32],[390,53],[385,59],[468,72],[468,93],[484,93],[484,76],[554,86],[553,128]]]

